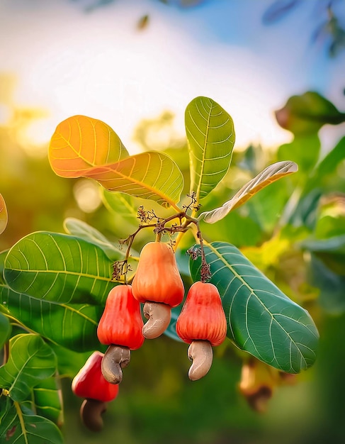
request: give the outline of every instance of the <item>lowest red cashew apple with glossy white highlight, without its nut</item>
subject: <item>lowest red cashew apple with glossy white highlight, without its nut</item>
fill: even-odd
[[[84,399],[109,402],[118,396],[118,384],[104,379],[101,364],[103,353],[94,352],[72,381],[72,392]]]

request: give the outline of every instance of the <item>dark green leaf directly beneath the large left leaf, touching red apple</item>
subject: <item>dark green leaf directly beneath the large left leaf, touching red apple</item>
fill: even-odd
[[[75,351],[96,350],[103,305],[59,304],[0,286],[0,302],[23,326]],[[34,315],[33,315],[34,313]]]

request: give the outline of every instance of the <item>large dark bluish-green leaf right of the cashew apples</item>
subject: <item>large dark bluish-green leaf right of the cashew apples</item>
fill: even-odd
[[[205,247],[212,278],[222,297],[228,337],[268,365],[288,373],[310,367],[319,334],[309,313],[285,296],[234,245]],[[200,258],[191,260],[200,280]]]

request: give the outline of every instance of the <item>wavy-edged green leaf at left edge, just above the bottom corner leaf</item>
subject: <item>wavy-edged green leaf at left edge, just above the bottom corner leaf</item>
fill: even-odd
[[[21,334],[10,339],[9,360],[0,367],[0,387],[13,401],[25,401],[42,379],[56,372],[56,356],[39,335]]]

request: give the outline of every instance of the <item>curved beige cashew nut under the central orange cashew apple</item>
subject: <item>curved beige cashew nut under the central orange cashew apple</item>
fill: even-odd
[[[142,334],[147,339],[158,338],[168,328],[171,319],[171,306],[160,302],[147,301],[144,316],[148,319],[142,327]]]

